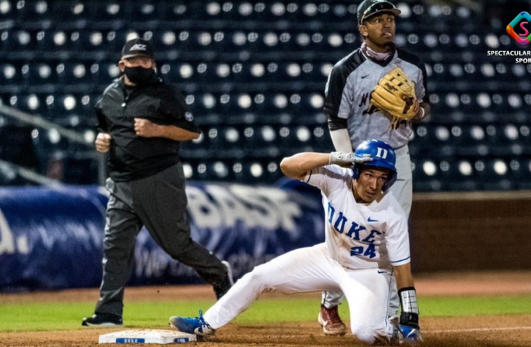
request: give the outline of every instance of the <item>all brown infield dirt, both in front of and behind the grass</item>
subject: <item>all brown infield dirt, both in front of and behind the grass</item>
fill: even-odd
[[[492,295],[530,294],[530,272],[449,273],[416,276],[420,295]],[[176,295],[178,290],[178,295]],[[93,301],[96,289],[60,291],[53,293],[0,295],[1,303]],[[268,294],[282,295],[282,294]],[[315,294],[304,294],[315,296]],[[212,289],[194,287],[142,287],[126,291],[126,301],[156,300],[185,301],[189,298],[213,298]],[[318,297],[318,296],[317,296]],[[531,303],[530,303],[531,305]],[[423,346],[442,347],[516,347],[531,346],[531,315],[423,317],[425,337]],[[155,328],[155,327],[154,327]],[[156,327],[160,328],[160,327]],[[96,346],[99,335],[121,329],[86,329],[57,332],[0,333],[0,346],[6,347],[86,347]],[[363,346],[352,335],[324,337],[319,325],[310,323],[280,323],[267,325],[230,324],[219,330],[216,337],[191,343],[194,346]],[[103,345],[102,345],[103,346]]]

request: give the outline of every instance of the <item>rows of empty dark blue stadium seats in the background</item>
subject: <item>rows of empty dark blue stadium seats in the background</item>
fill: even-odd
[[[83,133],[120,75],[121,47],[144,37],[160,76],[180,88],[203,130],[181,146],[190,177],[270,182],[284,155],[333,149],[323,95],[332,66],[360,44],[358,4],[3,0],[0,97]],[[395,42],[426,63],[432,105],[410,142],[415,189],[528,187],[530,65],[482,53],[514,42],[494,26],[478,33],[482,15],[462,5],[397,6]],[[54,153],[69,146],[53,132],[37,139]]]

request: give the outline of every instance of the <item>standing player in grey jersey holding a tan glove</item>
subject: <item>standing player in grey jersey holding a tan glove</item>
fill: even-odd
[[[363,43],[330,72],[324,110],[336,151],[349,153],[368,138],[393,147],[398,179],[391,190],[409,217],[413,189],[407,143],[412,121],[426,117],[430,105],[423,63],[394,44],[395,19],[400,12],[384,0],[365,0],[358,6]],[[398,297],[396,289],[393,291],[390,305],[391,312],[396,312]],[[326,335],[346,333],[337,312],[341,302],[341,293],[323,292],[318,321]]]

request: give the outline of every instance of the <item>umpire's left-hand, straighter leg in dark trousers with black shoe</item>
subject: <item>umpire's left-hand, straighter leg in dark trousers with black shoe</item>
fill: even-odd
[[[94,316],[83,319],[83,325],[121,325],[124,289],[133,266],[136,237],[142,228],[130,205],[129,183],[114,183],[109,179],[107,188],[111,196],[103,238],[100,298]]]

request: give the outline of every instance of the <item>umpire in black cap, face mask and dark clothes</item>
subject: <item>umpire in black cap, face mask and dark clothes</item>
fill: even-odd
[[[123,75],[96,103],[96,150],[109,153],[110,200],[100,298],[94,316],[83,319],[83,325],[122,324],[124,288],[142,226],[171,257],[209,282],[217,298],[232,282],[228,263],[190,237],[179,142],[196,139],[201,131],[185,114],[183,95],[158,78],[146,40],[126,42],[118,66]]]

